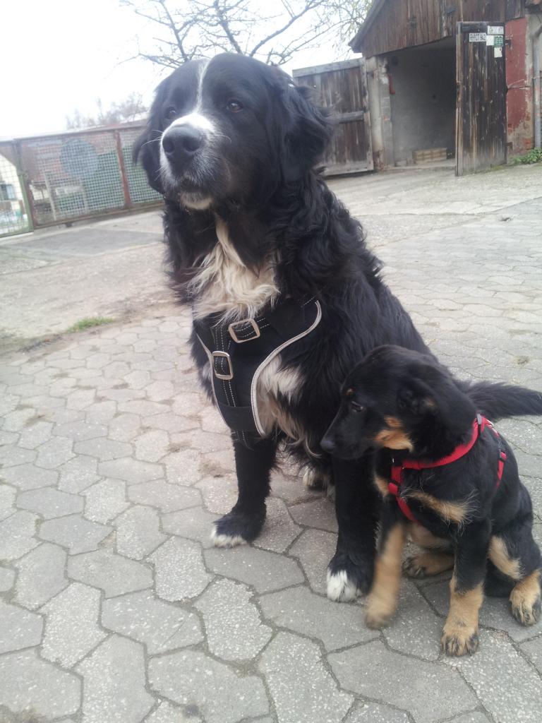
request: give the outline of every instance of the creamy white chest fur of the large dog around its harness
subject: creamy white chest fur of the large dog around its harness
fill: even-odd
[[[274,260],[254,273],[244,265],[228,236],[223,221],[216,225],[218,244],[207,255],[202,270],[191,281],[190,289],[196,299],[194,317],[222,312],[225,318],[254,318],[259,309],[278,296]],[[205,370],[205,376],[210,370]],[[266,434],[278,426],[298,439],[296,424],[280,406],[280,395],[290,400],[298,390],[301,375],[298,369],[280,369],[280,355],[267,364],[257,384],[257,407],[260,424]]]

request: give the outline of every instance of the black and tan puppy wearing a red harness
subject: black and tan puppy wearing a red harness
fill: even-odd
[[[454,568],[442,634],[448,655],[478,647],[487,565],[510,591],[519,623],[533,625],[541,612],[530,496],[512,450],[481,413],[494,419],[542,414],[542,395],[460,382],[431,356],[380,346],[346,378],[340,410],[322,440],[324,449],[345,459],[377,449],[382,534],[367,625],[380,628],[395,612],[410,532],[432,552],[406,560],[405,573],[421,578]]]

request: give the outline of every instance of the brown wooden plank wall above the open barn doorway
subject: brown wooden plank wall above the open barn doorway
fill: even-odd
[[[387,0],[361,43],[366,58],[453,37],[457,22],[504,22],[523,0]]]

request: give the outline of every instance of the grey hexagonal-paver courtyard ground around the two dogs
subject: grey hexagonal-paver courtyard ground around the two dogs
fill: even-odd
[[[378,182],[389,194],[403,181]],[[458,375],[542,390],[538,188],[512,205],[494,194],[464,223],[405,215],[402,234],[377,244]],[[355,196],[356,181],[337,191]],[[542,626],[520,627],[489,599],[478,653],[445,659],[441,576],[403,581],[395,622],[366,629],[363,601],[324,596],[335,516],[296,471],[275,474],[254,545],[210,546],[236,484],[189,325],[186,310],[151,310],[2,359],[0,721],[539,723]],[[540,541],[541,420],[499,429]]]

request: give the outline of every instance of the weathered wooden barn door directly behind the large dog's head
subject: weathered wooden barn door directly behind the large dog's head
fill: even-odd
[[[298,85],[309,85],[330,108],[337,129],[323,159],[328,176],[373,170],[369,96],[364,59],[345,60],[293,71]]]

